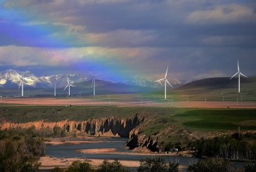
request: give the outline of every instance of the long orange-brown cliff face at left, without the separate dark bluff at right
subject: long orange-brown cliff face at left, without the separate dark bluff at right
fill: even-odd
[[[143,121],[143,117],[139,117],[137,114],[132,118],[117,119],[109,117],[105,119],[88,119],[86,121],[33,121],[27,123],[11,123],[3,122],[0,124],[0,128],[29,128],[34,126],[37,130],[41,128],[59,127],[61,130],[72,133],[87,133],[89,135],[104,135],[104,133],[111,133],[112,135],[120,135],[121,137],[128,138],[130,131],[136,126],[139,126]]]

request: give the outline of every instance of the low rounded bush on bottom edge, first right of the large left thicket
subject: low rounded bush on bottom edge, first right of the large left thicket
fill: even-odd
[[[94,171],[91,164],[81,161],[73,161],[67,172],[91,172]]]

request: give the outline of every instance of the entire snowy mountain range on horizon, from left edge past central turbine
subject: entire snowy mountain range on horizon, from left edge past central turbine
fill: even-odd
[[[57,88],[63,88],[67,85],[67,77],[75,83],[89,81],[87,76],[81,74],[56,74],[50,76],[37,77],[30,71],[20,72],[18,70],[6,70],[0,72],[0,85],[5,88],[18,88],[21,79],[23,79],[24,86],[31,88],[53,88],[56,84]],[[183,83],[177,79],[169,80],[174,87],[181,86]],[[126,84],[129,86],[140,86],[148,88],[161,88],[162,86],[154,81],[147,80],[130,80],[130,81],[108,81],[113,84]]]

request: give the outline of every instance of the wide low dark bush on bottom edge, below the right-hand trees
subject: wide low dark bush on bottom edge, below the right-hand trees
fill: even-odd
[[[231,163],[222,158],[200,159],[196,164],[188,166],[188,172],[226,172]]]

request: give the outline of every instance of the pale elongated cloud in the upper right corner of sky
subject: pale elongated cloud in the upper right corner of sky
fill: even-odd
[[[193,11],[187,21],[195,24],[230,24],[256,22],[256,13],[253,6],[229,4],[214,6],[212,9]]]

